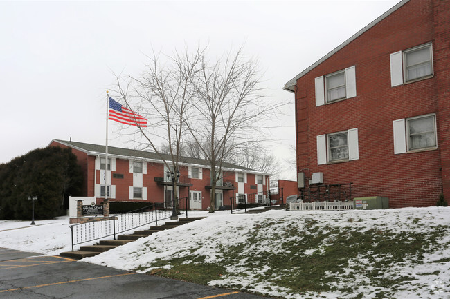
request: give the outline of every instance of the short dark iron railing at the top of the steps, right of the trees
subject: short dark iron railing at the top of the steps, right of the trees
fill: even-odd
[[[258,206],[279,206],[284,204],[283,189],[274,188],[251,194],[240,194],[230,197],[231,213],[244,211]]]

